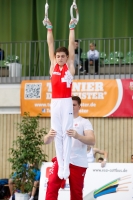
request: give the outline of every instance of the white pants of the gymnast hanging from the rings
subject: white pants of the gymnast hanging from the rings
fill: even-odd
[[[51,128],[56,131],[55,148],[59,168],[69,169],[71,137],[66,132],[73,129],[72,98],[51,99]]]

